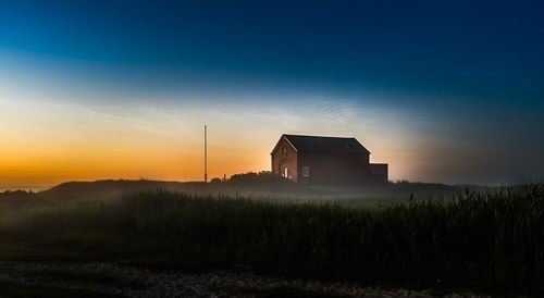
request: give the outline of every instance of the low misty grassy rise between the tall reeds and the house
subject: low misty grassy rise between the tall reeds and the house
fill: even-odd
[[[478,187],[471,186],[471,189]],[[226,182],[164,182],[107,179],[96,182],[67,182],[39,193],[0,193],[2,200],[28,200],[34,198],[53,200],[112,200],[135,193],[166,189],[195,195],[234,195],[244,197],[272,197],[284,199],[373,199],[404,200],[450,197],[465,191],[465,186],[426,183],[388,183],[366,186],[320,186],[292,183],[267,173],[238,174]]]

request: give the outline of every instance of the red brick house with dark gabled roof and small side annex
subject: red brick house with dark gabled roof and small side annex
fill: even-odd
[[[272,172],[294,182],[385,183],[386,163],[370,163],[356,138],[282,135],[272,150]]]

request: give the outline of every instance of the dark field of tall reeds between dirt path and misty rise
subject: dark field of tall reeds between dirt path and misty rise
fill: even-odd
[[[544,185],[379,208],[157,190],[13,211],[17,250],[172,266],[544,294]]]

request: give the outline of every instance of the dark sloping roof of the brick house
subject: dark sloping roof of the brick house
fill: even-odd
[[[364,153],[370,151],[356,138],[283,135],[298,152]]]

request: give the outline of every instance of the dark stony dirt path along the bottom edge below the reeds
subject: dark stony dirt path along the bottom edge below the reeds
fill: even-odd
[[[156,271],[103,262],[0,261],[0,283],[77,289],[110,297],[477,297],[471,294],[381,289],[225,271]],[[0,297],[18,296],[2,296],[0,293]]]

